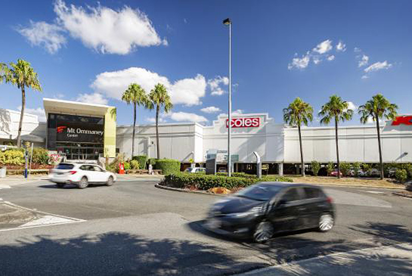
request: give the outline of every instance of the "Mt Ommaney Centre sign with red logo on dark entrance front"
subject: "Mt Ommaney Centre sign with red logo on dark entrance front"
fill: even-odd
[[[102,124],[80,122],[58,122],[57,141],[103,143],[104,126]]]

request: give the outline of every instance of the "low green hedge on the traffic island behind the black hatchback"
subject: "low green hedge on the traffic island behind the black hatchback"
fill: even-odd
[[[166,175],[162,182],[162,185],[174,188],[186,188],[195,186],[199,190],[209,190],[216,187],[223,187],[227,189],[247,187],[249,185],[262,181],[293,182],[292,179],[287,177],[227,177],[221,175],[176,173]]]

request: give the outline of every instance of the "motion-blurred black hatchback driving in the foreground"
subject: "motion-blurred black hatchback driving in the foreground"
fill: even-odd
[[[329,231],[335,222],[334,209],[332,199],[318,186],[260,182],[216,202],[204,227],[265,242],[283,231]]]

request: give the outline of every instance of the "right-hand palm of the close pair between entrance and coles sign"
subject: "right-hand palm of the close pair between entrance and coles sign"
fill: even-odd
[[[149,109],[153,109],[156,106],[156,147],[157,147],[157,159],[160,159],[159,150],[159,111],[164,108],[164,111],[169,112],[173,104],[171,102],[170,96],[167,93],[166,87],[163,84],[156,84],[155,88],[149,93],[150,103],[147,105]]]

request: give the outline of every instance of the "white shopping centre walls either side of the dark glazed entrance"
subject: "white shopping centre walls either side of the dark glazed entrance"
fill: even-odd
[[[45,99],[45,102],[51,100]],[[65,102],[59,104],[64,105]],[[20,112],[0,109],[0,145],[7,145],[16,139],[19,119]],[[46,147],[47,129],[47,122],[39,122],[37,116],[26,114],[22,139],[35,142],[35,146]],[[305,163],[336,162],[334,127],[302,127],[301,130]],[[107,132],[106,126],[104,131]],[[117,126],[113,132],[116,132],[116,152],[131,157],[133,126]],[[176,159],[187,164],[193,160],[201,164],[209,157],[216,156],[218,163],[226,166],[227,139],[227,116],[224,115],[220,115],[209,126],[198,123],[160,124],[160,158]],[[394,122],[383,123],[381,141],[385,163],[412,162],[412,116],[402,115]],[[263,164],[271,166],[273,173],[281,173],[283,164],[300,163],[297,128],[276,123],[267,113],[233,115],[231,145],[235,171],[245,171],[253,166],[256,162],[254,152],[260,155]],[[133,155],[155,158],[156,150],[155,125],[136,126]],[[340,126],[339,150],[341,161],[378,163],[376,126]]]

